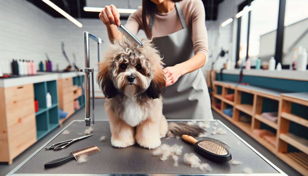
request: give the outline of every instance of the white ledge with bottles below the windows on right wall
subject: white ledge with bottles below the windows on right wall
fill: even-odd
[[[223,74],[240,74],[240,69],[223,70]],[[219,73],[219,71],[217,71]],[[243,75],[260,76],[279,79],[290,79],[298,81],[308,81],[308,71],[296,71],[296,70],[282,70],[282,71],[270,71],[270,70],[243,70]]]

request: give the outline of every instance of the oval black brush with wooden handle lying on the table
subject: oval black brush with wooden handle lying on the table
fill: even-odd
[[[212,161],[227,162],[232,159],[230,147],[225,142],[209,137],[195,139],[186,134],[183,134],[182,138],[184,141],[194,144],[196,152]]]

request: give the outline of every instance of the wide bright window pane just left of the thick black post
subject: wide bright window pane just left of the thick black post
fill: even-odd
[[[269,60],[275,55],[279,0],[251,2],[248,56]]]

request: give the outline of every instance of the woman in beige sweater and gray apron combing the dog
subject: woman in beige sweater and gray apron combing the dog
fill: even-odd
[[[120,14],[105,6],[99,18],[110,41],[117,39]],[[163,114],[168,119],[213,119],[209,92],[201,67],[208,60],[205,10],[201,0],[143,0],[125,27],[136,35],[144,30],[164,56],[166,91]]]

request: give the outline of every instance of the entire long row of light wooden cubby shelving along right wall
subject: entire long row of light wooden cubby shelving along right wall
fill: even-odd
[[[289,164],[295,170],[303,175],[308,175],[308,139],[293,134],[289,131],[290,122],[308,127],[307,117],[303,118],[292,113],[291,106],[293,103],[302,106],[308,106],[308,93],[288,93],[276,90],[269,90],[255,86],[245,86],[233,82],[213,82],[214,92],[212,96],[212,108],[218,114],[223,116],[229,122],[233,123],[239,129],[247,133],[266,149],[270,150],[277,157]],[[221,94],[217,94],[217,87],[221,87]],[[228,89],[234,90],[234,102],[224,98]],[[242,93],[252,94],[253,103],[242,102]],[[217,109],[215,103],[221,101],[221,109]],[[270,101],[273,107],[268,107],[264,101]],[[226,105],[233,106],[233,116],[229,117],[223,113]],[[277,107],[276,107],[277,106]],[[272,109],[270,109],[272,108]],[[270,109],[270,110],[269,110]],[[261,116],[262,112],[278,112],[278,123],[272,122]],[[251,124],[238,121],[240,112],[248,114],[252,118]],[[276,130],[276,145],[273,146],[264,138],[253,134],[254,129],[260,129],[267,126]],[[307,130],[306,130],[307,131]],[[293,146],[299,151],[288,151],[288,145]]]

